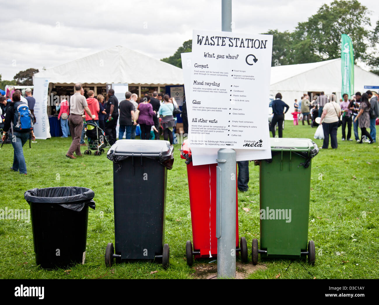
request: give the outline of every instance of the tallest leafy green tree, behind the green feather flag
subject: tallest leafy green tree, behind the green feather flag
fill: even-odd
[[[335,0],[330,6],[324,4],[308,21],[298,23],[293,33],[295,53],[298,53],[294,63],[339,58],[341,34],[351,38],[354,60],[367,62],[367,42],[371,38],[367,29],[371,26],[369,14],[368,9],[357,0]]]

